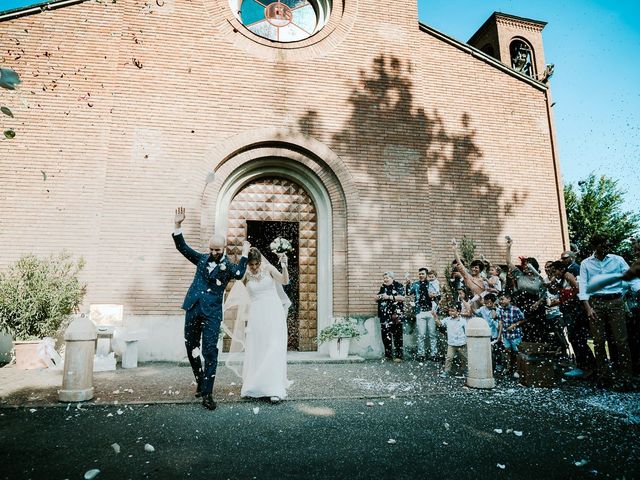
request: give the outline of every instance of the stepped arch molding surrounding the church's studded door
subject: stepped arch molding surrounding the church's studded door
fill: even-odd
[[[318,331],[329,324],[331,315],[347,313],[347,212],[349,205],[357,204],[358,198],[342,159],[312,137],[278,128],[235,135],[210,154],[207,160],[214,167],[202,194],[200,231],[203,235],[212,231],[226,234],[229,205],[247,183],[276,175],[300,184],[311,196],[317,211]]]

